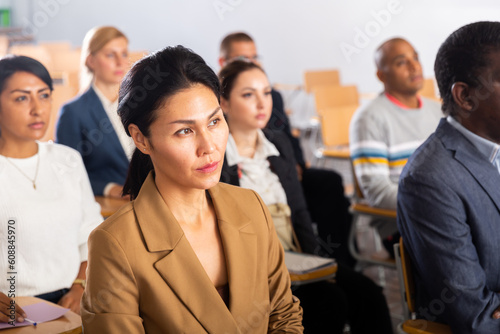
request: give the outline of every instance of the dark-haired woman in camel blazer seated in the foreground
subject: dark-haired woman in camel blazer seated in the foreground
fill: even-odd
[[[168,75],[135,99],[147,68]],[[181,46],[141,60],[122,83],[119,113],[137,146],[124,186],[133,201],[89,238],[86,334],[303,332],[266,206],[218,183],[228,136],[219,91]]]

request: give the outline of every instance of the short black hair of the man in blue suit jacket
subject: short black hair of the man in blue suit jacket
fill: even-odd
[[[500,22],[476,22],[453,32],[436,55],[434,72],[445,114],[455,113],[451,88],[456,82],[479,87],[481,70],[490,65],[489,55],[500,50]],[[483,82],[481,82],[483,81]]]

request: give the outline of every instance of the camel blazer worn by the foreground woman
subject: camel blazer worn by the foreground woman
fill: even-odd
[[[89,238],[82,320],[91,333],[302,333],[283,249],[253,191],[208,191],[229,281],[229,309],[150,173],[133,202]]]

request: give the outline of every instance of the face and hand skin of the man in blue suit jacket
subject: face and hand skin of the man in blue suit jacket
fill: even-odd
[[[489,80],[480,80],[478,87],[464,82],[453,84],[454,104],[448,112],[469,131],[500,144],[500,51],[490,54],[490,65],[479,76]],[[500,319],[500,306],[491,317]]]

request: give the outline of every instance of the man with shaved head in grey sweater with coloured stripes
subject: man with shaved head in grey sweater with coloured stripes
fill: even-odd
[[[396,209],[399,175],[415,149],[434,132],[439,103],[420,97],[423,86],[418,53],[402,38],[384,42],[375,53],[377,77],[384,91],[351,121],[354,170],[370,205]],[[382,237],[397,231],[384,224]]]

